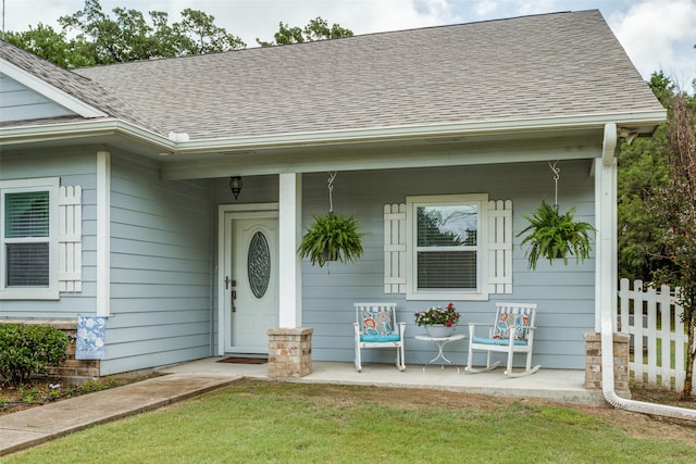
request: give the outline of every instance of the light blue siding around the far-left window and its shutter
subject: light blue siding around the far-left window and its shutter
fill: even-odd
[[[60,177],[61,186],[82,187],[83,285],[80,292],[60,293],[58,301],[0,300],[0,317],[76,321],[78,314],[96,313],[96,153],[85,148],[2,153],[0,179]]]

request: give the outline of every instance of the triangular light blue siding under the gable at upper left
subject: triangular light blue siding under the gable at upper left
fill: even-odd
[[[0,73],[0,123],[75,114]]]

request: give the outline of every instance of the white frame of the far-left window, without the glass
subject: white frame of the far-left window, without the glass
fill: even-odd
[[[0,180],[0,300],[58,300],[58,189],[59,177]],[[4,253],[5,195],[48,191],[49,195],[49,285],[47,287],[7,287],[7,258]]]

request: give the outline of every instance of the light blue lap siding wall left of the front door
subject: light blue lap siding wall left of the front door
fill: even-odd
[[[112,155],[111,314],[102,375],[211,354],[209,183]]]

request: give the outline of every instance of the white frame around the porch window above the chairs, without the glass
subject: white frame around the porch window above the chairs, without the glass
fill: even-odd
[[[417,259],[417,208],[447,204],[476,203],[478,205],[478,233],[476,240],[476,289],[457,291],[452,289],[419,290]],[[407,300],[470,300],[488,299],[488,195],[442,195],[406,198],[406,298]]]

